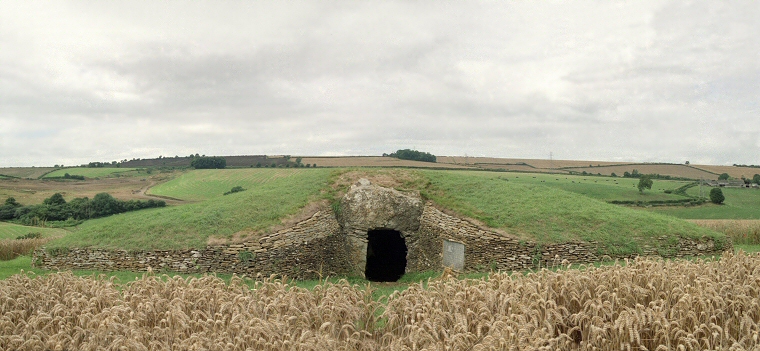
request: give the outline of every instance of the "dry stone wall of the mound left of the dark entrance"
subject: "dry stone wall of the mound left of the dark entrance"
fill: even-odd
[[[350,270],[345,240],[332,211],[270,235],[240,244],[200,250],[40,249],[34,265],[46,269],[237,273],[251,277],[286,275],[296,279],[343,274]]]

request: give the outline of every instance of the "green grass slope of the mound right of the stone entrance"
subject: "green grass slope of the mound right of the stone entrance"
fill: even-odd
[[[639,252],[656,238],[722,234],[670,216],[610,205],[540,182],[505,180],[493,172],[421,171],[423,194],[445,208],[539,243],[599,241],[607,253]],[[532,179],[532,178],[531,178]]]

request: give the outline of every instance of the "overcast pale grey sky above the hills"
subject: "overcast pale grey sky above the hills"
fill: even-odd
[[[760,1],[0,1],[0,167],[760,164]]]

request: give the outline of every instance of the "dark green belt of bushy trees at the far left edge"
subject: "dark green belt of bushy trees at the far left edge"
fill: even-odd
[[[9,197],[0,206],[0,220],[15,221],[24,225],[37,225],[47,221],[87,220],[105,217],[117,213],[136,211],[145,208],[164,207],[163,200],[118,200],[108,193],[99,193],[90,200],[87,197],[75,198],[69,202],[61,193],[45,199],[42,204],[24,206]]]

